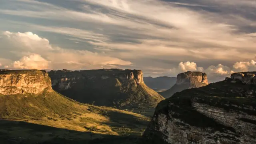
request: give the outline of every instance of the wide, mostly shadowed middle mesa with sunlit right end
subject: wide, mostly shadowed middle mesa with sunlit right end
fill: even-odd
[[[141,70],[52,70],[52,87],[83,103],[99,106],[150,106],[164,100],[143,81]]]

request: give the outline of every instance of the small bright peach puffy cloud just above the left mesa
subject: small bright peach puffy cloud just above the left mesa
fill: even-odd
[[[50,69],[50,62],[42,58],[39,54],[32,54],[30,56],[24,56],[20,60],[13,62],[5,68],[12,69]]]

